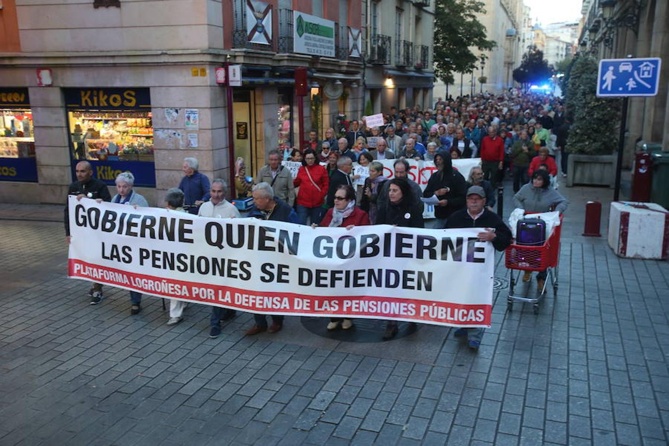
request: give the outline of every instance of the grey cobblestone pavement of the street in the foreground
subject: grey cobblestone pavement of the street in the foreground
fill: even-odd
[[[666,445],[669,266],[613,255],[605,217],[581,237],[584,202],[611,191],[566,193],[557,297],[506,313],[500,290],[478,354],[433,326],[346,342],[287,318],[245,337],[243,314],[212,340],[202,306],[173,327],[157,298],[130,316],[105,287],[89,306],[43,221],[60,209],[0,206],[0,445]]]

